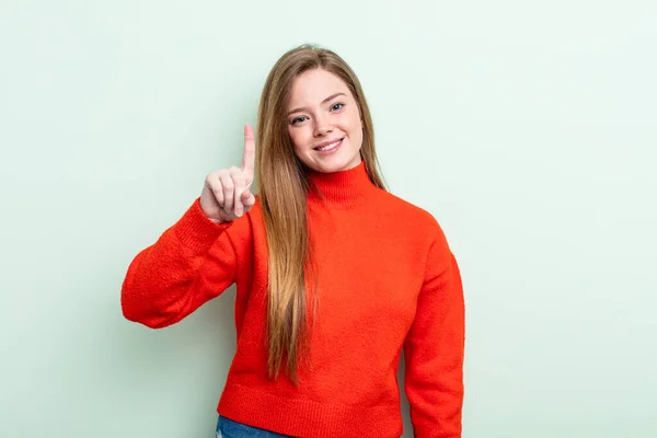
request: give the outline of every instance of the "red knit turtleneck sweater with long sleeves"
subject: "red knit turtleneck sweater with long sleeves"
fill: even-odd
[[[460,437],[464,306],[461,277],[434,217],[376,187],[361,162],[312,173],[308,195],[319,265],[312,371],[267,378],[267,246],[260,204],[220,226],[198,199],[131,262],[122,290],[125,318],[174,324],[237,284],[237,353],[219,414],[296,437],[402,435],[396,371],[417,438]],[[257,197],[256,197],[257,198]]]

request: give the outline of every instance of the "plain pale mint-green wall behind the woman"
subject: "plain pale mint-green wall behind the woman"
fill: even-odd
[[[214,437],[234,289],[151,331],[123,319],[120,284],[239,163],[265,76],[306,42],[359,74],[393,193],[459,257],[463,436],[657,437],[654,1],[4,0],[0,16],[1,437]]]

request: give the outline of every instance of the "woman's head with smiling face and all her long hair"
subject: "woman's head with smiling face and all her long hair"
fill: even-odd
[[[256,132],[256,180],[268,252],[268,371],[278,377],[284,365],[296,382],[299,357],[307,357],[308,322],[313,321],[308,316],[318,304],[312,293],[316,261],[308,229],[308,171],[339,172],[362,160],[372,184],[385,187],[362,89],[331,50],[303,45],[276,62],[261,96]],[[342,140],[333,153],[315,149],[333,140]]]

